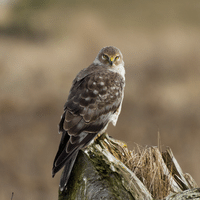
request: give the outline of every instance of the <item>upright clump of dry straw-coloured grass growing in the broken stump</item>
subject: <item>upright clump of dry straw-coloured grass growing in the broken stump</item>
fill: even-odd
[[[163,170],[163,161],[157,147],[141,147],[131,151],[127,166],[143,182],[155,199],[162,199],[171,191],[168,174]]]

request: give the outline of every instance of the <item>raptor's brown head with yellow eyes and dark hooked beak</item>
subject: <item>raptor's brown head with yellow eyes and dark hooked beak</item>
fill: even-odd
[[[121,51],[113,46],[104,47],[103,49],[101,49],[94,63],[111,68],[120,64],[124,65]]]

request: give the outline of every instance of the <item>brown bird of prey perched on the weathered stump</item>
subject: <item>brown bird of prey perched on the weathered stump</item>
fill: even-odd
[[[74,79],[59,123],[62,137],[52,169],[54,177],[65,166],[61,191],[67,186],[79,150],[104,133],[109,122],[116,125],[124,87],[123,56],[113,46],[101,49],[94,62]]]

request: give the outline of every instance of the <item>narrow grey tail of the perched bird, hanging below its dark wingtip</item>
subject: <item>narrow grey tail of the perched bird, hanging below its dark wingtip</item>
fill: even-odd
[[[61,178],[60,178],[60,191],[63,191],[67,186],[67,182],[69,180],[69,177],[70,177],[71,171],[73,169],[78,152],[79,151],[75,151],[70,156],[70,159],[67,160],[65,163],[65,167],[64,167],[64,170],[63,170]]]

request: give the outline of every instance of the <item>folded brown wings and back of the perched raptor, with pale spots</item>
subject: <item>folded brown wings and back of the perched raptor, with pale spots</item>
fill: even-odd
[[[108,124],[121,104],[123,87],[123,78],[109,70],[97,70],[75,79],[59,124],[62,138],[53,175]]]

